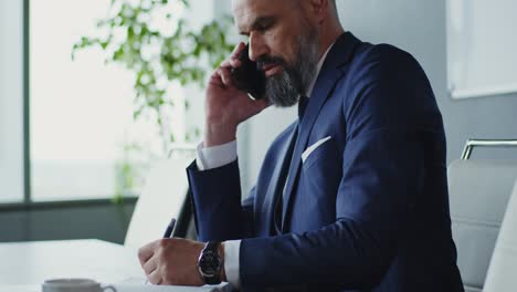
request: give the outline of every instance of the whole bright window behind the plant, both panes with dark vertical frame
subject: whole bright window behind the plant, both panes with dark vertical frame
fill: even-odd
[[[162,154],[156,124],[133,119],[134,73],[105,64],[101,49],[72,60],[110,1],[0,1],[0,204],[137,195],[146,164]],[[191,7],[192,24],[212,19],[211,1]],[[194,143],[184,137],[202,127],[202,93],[170,90],[177,103],[193,96],[167,123],[178,143]]]

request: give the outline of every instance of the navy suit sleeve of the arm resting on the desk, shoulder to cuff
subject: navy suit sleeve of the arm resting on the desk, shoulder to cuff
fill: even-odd
[[[422,135],[434,135],[441,121],[418,63],[391,50],[370,52],[350,69],[355,77],[344,95],[354,97],[342,97],[347,143],[336,221],[304,233],[243,240],[243,286],[303,279],[371,289],[382,279],[421,192]]]

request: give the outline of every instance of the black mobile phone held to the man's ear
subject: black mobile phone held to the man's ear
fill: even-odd
[[[261,100],[265,95],[265,72],[257,66],[256,62],[250,60],[249,51],[250,44],[246,44],[239,54],[241,66],[231,71],[232,80],[235,87],[247,92],[253,100]]]

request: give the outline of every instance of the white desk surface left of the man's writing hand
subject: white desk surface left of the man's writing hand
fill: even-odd
[[[102,283],[145,279],[137,251],[101,240],[0,243],[0,286],[41,284],[52,278]]]

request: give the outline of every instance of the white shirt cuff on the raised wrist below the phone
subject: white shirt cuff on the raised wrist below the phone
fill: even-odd
[[[236,140],[207,147],[200,143],[197,148],[196,165],[199,170],[209,170],[228,165],[236,159]]]

